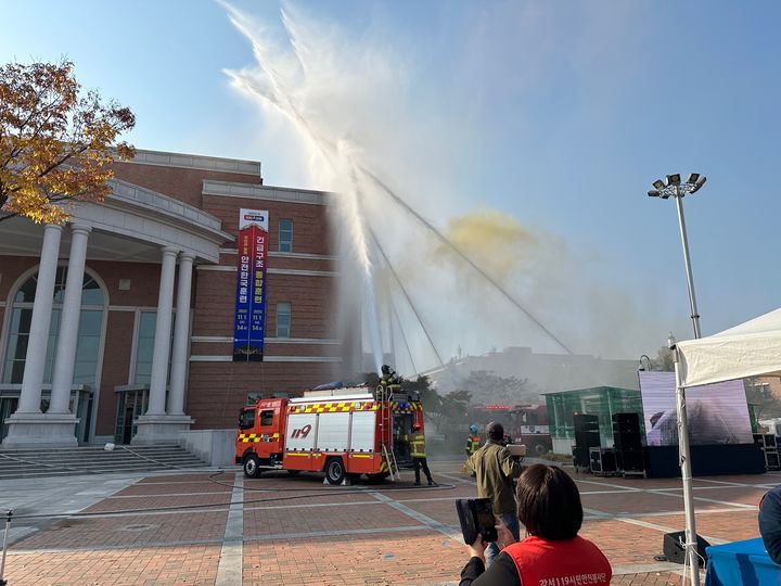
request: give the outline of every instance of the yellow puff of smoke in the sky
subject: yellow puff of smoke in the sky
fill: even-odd
[[[512,216],[495,209],[453,218],[444,233],[464,255],[500,280],[526,265],[537,249],[537,239],[526,228]],[[436,254],[449,257],[453,252],[439,245]]]

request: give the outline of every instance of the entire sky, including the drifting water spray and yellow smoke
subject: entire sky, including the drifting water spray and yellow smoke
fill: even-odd
[[[692,337],[675,202],[646,195],[671,173],[707,176],[684,200],[703,334],[781,305],[778,2],[0,10],[0,63],[73,60],[85,87],[133,110],[137,148],[261,161],[266,184],[345,190],[358,202],[347,214],[362,215],[345,225],[382,234],[443,359],[562,352],[526,314],[568,349],[607,358],[653,356],[670,331]],[[363,182],[345,179],[350,168]],[[373,276],[388,281],[382,265],[375,255]],[[379,296],[396,298],[381,315],[399,316],[386,318],[385,343],[405,334],[415,367],[434,366],[398,285]]]

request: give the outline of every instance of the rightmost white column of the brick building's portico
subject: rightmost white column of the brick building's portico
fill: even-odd
[[[177,318],[174,323],[171,380],[168,392],[168,415],[171,416],[184,415],[184,378],[187,375],[188,348],[190,347],[190,291],[194,258],[190,253],[179,255]]]

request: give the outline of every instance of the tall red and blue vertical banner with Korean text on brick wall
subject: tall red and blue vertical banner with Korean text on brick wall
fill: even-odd
[[[233,361],[263,360],[266,332],[268,212],[239,211]]]

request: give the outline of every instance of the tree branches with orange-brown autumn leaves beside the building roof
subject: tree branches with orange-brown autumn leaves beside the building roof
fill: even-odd
[[[136,125],[128,107],[82,92],[71,61],[0,67],[0,221],[24,216],[62,224],[67,201],[102,202],[111,164],[135,151],[113,146]]]

